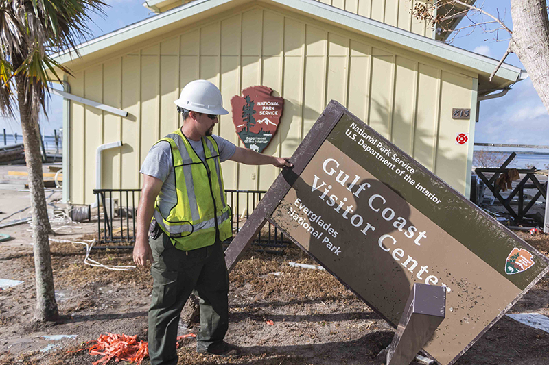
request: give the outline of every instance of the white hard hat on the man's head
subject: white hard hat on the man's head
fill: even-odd
[[[223,98],[217,86],[207,80],[195,80],[185,85],[179,99],[174,103],[193,112],[224,115],[229,114],[223,108]]]

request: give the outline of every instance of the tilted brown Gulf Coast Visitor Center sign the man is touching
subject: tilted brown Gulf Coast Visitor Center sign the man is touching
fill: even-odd
[[[226,251],[282,229],[397,327],[415,283],[446,313],[423,349],[453,364],[549,270],[549,260],[331,101]]]

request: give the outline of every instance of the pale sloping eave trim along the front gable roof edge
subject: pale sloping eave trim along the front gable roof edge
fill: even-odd
[[[164,32],[165,29],[174,27],[177,23],[185,21],[191,17],[198,16],[208,10],[219,12],[223,5],[234,7],[240,3],[246,3],[251,0],[195,0],[181,5],[178,8],[168,10],[162,14],[145,19],[139,23],[129,25],[119,29],[116,32],[106,34],[95,40],[91,40],[78,46],[81,57],[91,55],[100,51],[106,51],[108,47],[117,45],[121,42],[127,42],[130,45],[130,40],[134,40],[138,36],[147,34],[154,36],[159,32]],[[457,64],[458,66],[469,68],[471,71],[480,75],[490,75],[498,65],[497,60],[493,60],[484,55],[478,55],[471,51],[465,51],[452,45],[447,45],[443,42],[433,40],[418,34],[407,32],[397,27],[392,27],[384,23],[379,23],[364,16],[352,14],[339,8],[335,8],[315,0],[259,0],[265,3],[278,4],[283,8],[288,8],[294,12],[301,12],[306,16],[320,18],[323,21],[336,23],[339,27],[351,29],[354,32],[368,34],[373,38],[378,38],[384,42],[391,42],[398,47],[405,47],[410,51],[419,53],[427,53],[430,57]],[[231,3],[231,5],[228,5]],[[204,14],[202,14],[204,15]],[[56,55],[56,61],[60,64],[65,64],[72,60],[71,53],[65,52]],[[513,84],[519,80],[521,69],[509,64],[502,64],[496,79],[502,81],[503,84]],[[497,86],[497,85],[496,85]]]

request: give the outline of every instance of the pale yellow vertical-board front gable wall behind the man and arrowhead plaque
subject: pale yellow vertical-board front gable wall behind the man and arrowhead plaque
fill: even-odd
[[[374,9],[363,1],[344,4],[357,12]],[[401,11],[392,14],[401,21]],[[102,143],[124,143],[104,154],[103,186],[141,186],[145,155],[180,126],[173,101],[197,78],[220,87],[228,110],[231,97],[249,86],[263,84],[284,97],[281,125],[267,154],[292,155],[327,103],[336,99],[465,191],[467,146],[456,146],[454,138],[469,130],[469,122],[452,120],[451,110],[470,107],[471,75],[304,16],[257,5],[242,8],[77,71],[70,79],[75,95],[129,115],[121,118],[71,103],[73,203],[93,201],[95,149]],[[222,116],[215,133],[242,145],[231,119],[231,114]],[[266,190],[278,173],[273,166],[224,163],[229,189]]]

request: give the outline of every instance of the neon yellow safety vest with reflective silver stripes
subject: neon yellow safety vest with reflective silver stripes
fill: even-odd
[[[159,140],[172,147],[177,203],[163,216],[157,197],[154,218],[172,244],[183,251],[213,244],[216,234],[222,241],[233,235],[218,144],[211,136],[201,139],[206,161],[198,157],[180,129]]]

